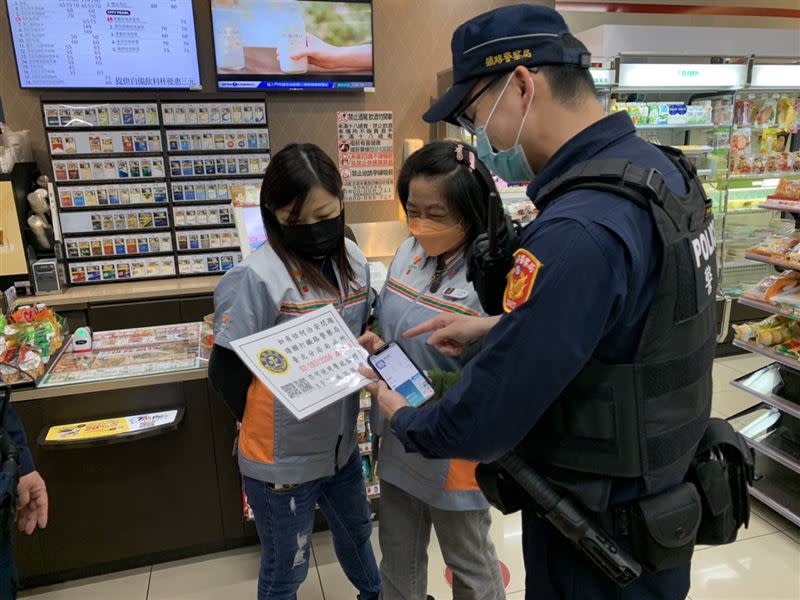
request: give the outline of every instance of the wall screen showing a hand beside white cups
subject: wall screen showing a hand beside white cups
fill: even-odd
[[[211,0],[220,89],[375,85],[371,0]]]

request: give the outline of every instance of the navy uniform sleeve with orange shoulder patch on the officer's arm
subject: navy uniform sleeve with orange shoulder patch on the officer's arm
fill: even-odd
[[[516,307],[486,336],[461,381],[435,406],[395,413],[392,430],[408,451],[486,462],[502,457],[589,361],[618,317],[629,265],[610,231],[553,220],[533,228],[522,250],[515,267],[522,260],[528,270],[511,277],[506,289]]]

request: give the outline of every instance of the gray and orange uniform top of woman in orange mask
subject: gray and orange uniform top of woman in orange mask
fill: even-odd
[[[416,240],[406,240],[395,254],[376,307],[383,339],[397,341],[420,369],[459,371],[458,359],[445,356],[425,343],[427,336],[404,339],[402,333],[443,312],[485,316],[478,296],[467,281],[466,263],[458,259],[438,289],[430,291],[436,259],[428,257]],[[377,411],[373,411],[373,414]],[[412,496],[441,510],[482,510],[489,503],[475,481],[477,463],[464,460],[431,460],[406,452],[379,419],[381,432],[378,475]]]

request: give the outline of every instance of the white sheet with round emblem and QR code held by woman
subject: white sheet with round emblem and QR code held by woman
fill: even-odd
[[[361,390],[367,352],[328,305],[232,342],[250,371],[303,420]]]

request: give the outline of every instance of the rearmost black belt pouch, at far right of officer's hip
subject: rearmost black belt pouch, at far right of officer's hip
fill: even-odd
[[[718,546],[736,541],[750,522],[748,485],[755,474],[753,451],[723,419],[711,419],[689,468],[703,502],[698,544]]]

